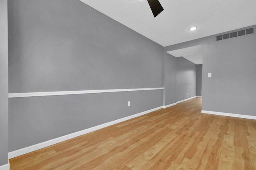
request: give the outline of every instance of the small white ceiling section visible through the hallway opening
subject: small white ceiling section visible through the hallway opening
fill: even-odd
[[[167,51],[167,53],[174,57],[184,57],[195,64],[203,64],[203,45]]]

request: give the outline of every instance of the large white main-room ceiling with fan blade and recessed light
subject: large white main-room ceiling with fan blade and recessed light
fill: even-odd
[[[80,1],[164,47],[256,24],[256,0],[159,0],[156,18],[147,0]]]

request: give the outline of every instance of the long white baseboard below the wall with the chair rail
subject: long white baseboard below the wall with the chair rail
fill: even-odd
[[[126,120],[129,120],[129,119],[132,119],[134,117],[138,117],[138,116],[141,116],[141,115],[144,115],[144,114],[147,114],[147,113],[150,113],[152,111],[156,111],[158,109],[162,109],[164,108],[164,106],[160,106],[160,107],[156,107],[154,109],[150,109],[150,110],[147,110],[147,111],[143,111],[141,113],[137,113],[137,114],[134,114],[134,115],[130,115],[130,116],[127,116],[127,117],[124,117],[124,118],[121,118],[121,119],[117,119],[117,120],[114,120],[114,121],[110,121],[108,123],[104,123],[102,125],[98,125],[98,126],[94,126],[94,127],[90,127],[88,129],[84,129],[82,131],[78,131],[78,132],[75,132],[75,133],[71,133],[69,135],[65,135],[65,136],[62,136],[62,137],[58,137],[58,138],[55,138],[55,139],[51,139],[49,141],[45,141],[45,142],[42,142],[42,143],[38,143],[36,145],[32,145],[32,146],[29,146],[29,147],[26,147],[26,148],[22,148],[22,149],[18,149],[18,150],[14,150],[12,152],[9,152],[8,153],[8,159],[11,159],[11,158],[14,158],[14,157],[17,157],[17,156],[20,156],[22,154],[26,154],[26,153],[29,153],[29,152],[32,152],[32,151],[35,151],[35,150],[38,150],[38,149],[42,149],[42,148],[45,148],[45,147],[48,147],[50,145],[54,145],[56,143],[60,143],[60,142],[63,142],[63,141],[66,141],[68,139],[72,139],[74,137],[78,137],[80,135],[84,135],[86,133],[90,133],[92,131],[96,131],[98,129],[102,129],[104,127],[108,127],[110,125],[114,125],[116,123],[120,123],[122,121],[126,121]],[[0,168],[0,170],[2,170]],[[4,169],[3,169],[4,170]]]

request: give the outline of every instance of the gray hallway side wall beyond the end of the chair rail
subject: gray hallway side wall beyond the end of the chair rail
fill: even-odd
[[[164,54],[164,105],[196,96],[196,64]]]

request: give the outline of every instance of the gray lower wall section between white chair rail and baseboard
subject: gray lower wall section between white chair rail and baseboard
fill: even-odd
[[[162,106],[162,98],[162,90],[10,98],[9,152]]]

